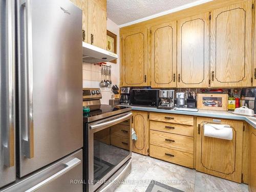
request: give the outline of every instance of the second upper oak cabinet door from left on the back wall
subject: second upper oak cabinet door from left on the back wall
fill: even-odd
[[[151,87],[176,87],[176,25],[174,21],[151,29]]]

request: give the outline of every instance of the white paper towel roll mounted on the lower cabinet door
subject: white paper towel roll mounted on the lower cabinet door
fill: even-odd
[[[204,124],[204,136],[232,140],[233,130],[228,124]]]

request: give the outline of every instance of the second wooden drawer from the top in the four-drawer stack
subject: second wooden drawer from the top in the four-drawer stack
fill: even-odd
[[[189,137],[194,136],[194,126],[191,125],[150,121],[150,129],[166,133],[185,135]]]

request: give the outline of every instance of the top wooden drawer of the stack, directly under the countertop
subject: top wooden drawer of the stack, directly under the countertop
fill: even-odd
[[[176,115],[176,114],[169,114],[169,113],[151,112],[150,120],[168,122],[168,123],[194,125],[194,116],[189,116],[189,115]]]

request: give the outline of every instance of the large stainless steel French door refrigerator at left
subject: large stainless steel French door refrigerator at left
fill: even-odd
[[[0,191],[82,191],[82,11],[0,0]]]

